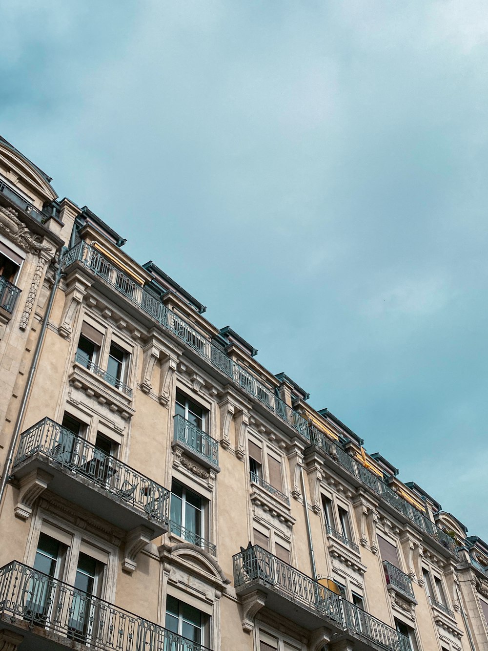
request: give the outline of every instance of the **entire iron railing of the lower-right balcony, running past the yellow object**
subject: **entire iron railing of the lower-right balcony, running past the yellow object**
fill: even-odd
[[[395,651],[411,651],[405,635],[335,594],[318,581],[281,561],[266,549],[254,545],[234,555],[234,585],[239,587],[263,581],[293,603],[333,620],[340,630],[365,637]]]

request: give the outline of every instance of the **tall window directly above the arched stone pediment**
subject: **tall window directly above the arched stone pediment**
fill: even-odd
[[[180,482],[171,484],[171,532],[187,542],[204,547],[208,502]]]

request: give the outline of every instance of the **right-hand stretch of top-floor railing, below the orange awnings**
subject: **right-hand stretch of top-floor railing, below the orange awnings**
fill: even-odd
[[[345,450],[342,450],[338,445],[335,446],[332,452],[333,458],[350,473],[355,475],[362,484],[368,486],[372,491],[377,493],[380,497],[390,505],[393,506],[398,512],[409,518],[417,527],[422,529],[425,533],[429,534],[446,547],[450,552],[457,556],[457,545],[455,540],[451,538],[445,531],[442,531],[435,523],[433,523],[427,516],[421,513],[414,506],[409,504],[403,497],[400,497],[388,484],[381,480],[377,475],[364,467],[364,465],[357,462]]]

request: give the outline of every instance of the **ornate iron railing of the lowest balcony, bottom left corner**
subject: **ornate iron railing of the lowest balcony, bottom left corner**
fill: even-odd
[[[0,568],[0,614],[103,651],[210,651],[18,561]],[[33,628],[35,632],[36,629]],[[67,645],[68,646],[68,645]]]

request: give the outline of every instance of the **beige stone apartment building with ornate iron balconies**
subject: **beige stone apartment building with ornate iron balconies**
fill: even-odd
[[[488,546],[0,139],[0,650],[486,651]]]

